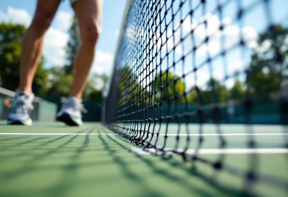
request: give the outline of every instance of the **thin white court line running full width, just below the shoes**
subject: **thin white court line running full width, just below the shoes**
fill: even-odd
[[[0,133],[0,135],[118,135],[116,133]],[[151,134],[149,134],[151,136]],[[155,134],[156,135],[156,134]],[[154,136],[155,136],[154,135]],[[249,136],[249,135],[288,135],[288,133],[221,133],[221,134],[188,134],[188,136]],[[165,136],[165,134],[159,134]],[[177,136],[177,134],[167,134],[167,136]],[[187,134],[179,134],[187,136]]]

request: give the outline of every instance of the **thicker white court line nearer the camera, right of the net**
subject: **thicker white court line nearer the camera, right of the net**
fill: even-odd
[[[162,151],[155,149],[147,149],[144,151],[141,148],[131,148],[131,151],[139,155],[162,154]],[[165,149],[166,151],[173,149]],[[187,155],[194,155],[197,149],[187,149]],[[178,152],[183,152],[183,149],[177,149]],[[198,149],[196,154],[199,155],[215,155],[215,154],[285,154],[288,153],[288,148],[226,148],[226,149]],[[173,155],[174,152],[166,152],[167,155]]]

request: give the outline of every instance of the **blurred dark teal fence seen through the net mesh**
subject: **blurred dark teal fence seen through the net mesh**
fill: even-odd
[[[232,124],[282,124],[283,121],[287,123],[287,112],[282,112],[282,101],[281,100],[273,100],[273,101],[259,101],[254,103],[253,109],[251,109],[249,119],[247,120],[247,114],[244,108],[245,103],[239,101],[238,105],[225,107],[224,105],[219,105],[218,115],[215,117],[215,108],[211,108],[211,110],[206,111],[202,116],[202,121],[204,123],[232,123]],[[203,108],[209,108],[209,105],[203,106]],[[197,113],[199,109],[195,104],[187,104],[187,109],[192,111],[191,113]],[[234,113],[229,113],[233,109]],[[162,109],[160,107],[156,107],[156,118],[159,118],[159,114],[162,111],[162,114],[167,114],[168,105],[162,105]],[[186,111],[186,105],[181,103],[177,104],[178,114],[183,114]],[[170,105],[169,112],[170,115],[173,115],[175,112],[175,105]],[[153,113],[154,114],[154,113]],[[158,116],[157,116],[158,114]],[[174,114],[175,115],[175,114]],[[154,118],[155,116],[152,115]],[[186,118],[179,117],[179,122],[186,122]],[[162,122],[167,122],[166,119],[163,119]],[[177,119],[170,119],[169,122],[177,123]],[[189,117],[189,123],[199,123],[200,120],[198,116]]]

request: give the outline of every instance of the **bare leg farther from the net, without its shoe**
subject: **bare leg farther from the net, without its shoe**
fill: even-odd
[[[42,54],[44,33],[48,30],[61,0],[38,0],[30,27],[22,42],[19,90],[32,93],[32,82]]]

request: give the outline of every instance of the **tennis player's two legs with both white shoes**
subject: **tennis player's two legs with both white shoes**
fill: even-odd
[[[81,35],[81,46],[74,60],[74,80],[71,93],[62,105],[57,119],[69,125],[82,125],[82,93],[94,60],[95,47],[100,33],[102,3],[99,0],[70,0],[77,16]],[[20,85],[12,101],[12,109],[7,124],[32,125],[31,110],[32,82],[43,49],[44,34],[48,30],[61,0],[38,0],[30,27],[22,41],[20,61]]]

